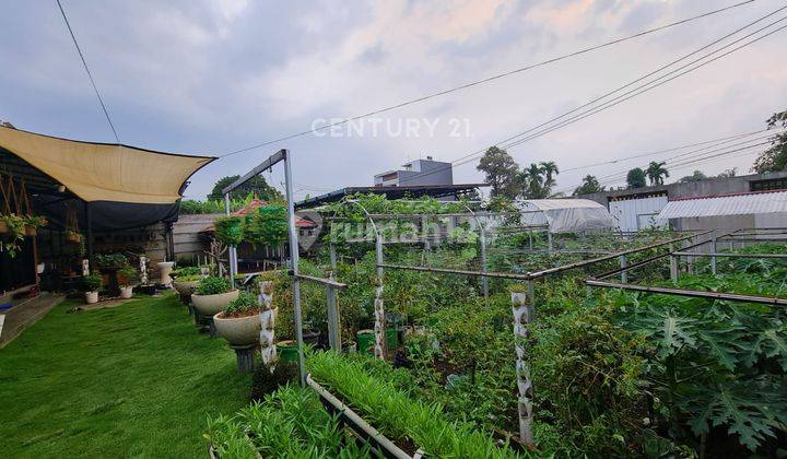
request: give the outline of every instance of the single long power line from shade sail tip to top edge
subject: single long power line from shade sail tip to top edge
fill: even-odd
[[[58,1],[59,1],[59,0],[58,0]],[[623,42],[627,42],[627,40],[631,40],[631,39],[634,39],[634,38],[638,38],[638,37],[642,37],[642,36],[644,36],[644,35],[648,35],[648,34],[651,34],[651,33],[655,33],[655,32],[663,31],[663,30],[666,30],[666,28],[670,28],[670,27],[673,27],[673,26],[677,26],[677,25],[685,24],[685,23],[688,23],[688,22],[692,22],[692,21],[695,21],[695,20],[698,20],[698,19],[707,17],[707,16],[713,15],[713,14],[717,14],[717,13],[720,13],[720,12],[724,12],[724,11],[727,11],[727,10],[730,10],[730,9],[733,9],[733,8],[742,7],[742,5],[748,4],[748,3],[752,3],[753,1],[754,1],[754,0],[747,0],[747,1],[743,1],[743,2],[740,2],[740,3],[735,3],[735,4],[731,4],[731,5],[725,7],[725,8],[720,8],[720,9],[718,9],[718,10],[708,11],[708,12],[706,12],[706,13],[702,13],[702,14],[698,14],[698,15],[695,15],[695,16],[692,16],[692,17],[688,17],[688,19],[680,20],[680,21],[676,21],[676,22],[672,22],[672,23],[669,23],[669,24],[665,24],[665,25],[655,27],[655,28],[649,28],[649,30],[646,30],[646,31],[643,31],[643,32],[638,32],[638,33],[636,33],[636,34],[634,34],[634,35],[629,35],[629,36],[625,36],[625,37],[622,37],[622,38],[616,38],[616,39],[611,40],[611,42],[607,42],[607,43],[603,43],[603,44],[600,44],[600,45],[595,45],[595,46],[591,46],[591,47],[589,47],[589,48],[584,48],[584,49],[580,49],[580,50],[577,50],[577,51],[574,51],[574,52],[569,52],[569,54],[566,54],[566,55],[562,55],[562,56],[559,56],[559,57],[554,57],[554,58],[551,58],[551,59],[547,59],[547,60],[543,60],[543,61],[540,61],[540,62],[537,62],[537,63],[532,63],[532,64],[528,64],[528,66],[525,66],[525,67],[520,67],[520,68],[518,68],[518,69],[514,69],[514,70],[509,70],[509,71],[507,71],[507,72],[503,72],[503,73],[498,73],[498,74],[495,74],[495,75],[492,75],[492,76],[488,76],[488,78],[482,79],[482,80],[472,81],[472,82],[469,82],[469,83],[461,84],[461,85],[459,85],[459,86],[450,87],[450,89],[448,89],[448,90],[438,91],[438,92],[436,92],[436,93],[427,94],[427,95],[425,95],[425,96],[421,96],[421,97],[418,97],[418,98],[413,98],[413,99],[410,99],[410,101],[406,101],[406,102],[402,102],[402,103],[399,103],[399,104],[396,104],[396,105],[391,105],[391,106],[388,106],[388,107],[385,107],[385,108],[379,108],[379,109],[376,109],[376,110],[372,110],[372,111],[366,113],[366,114],[363,114],[363,115],[357,115],[357,116],[354,116],[354,117],[351,117],[351,118],[346,118],[346,119],[343,119],[343,120],[341,120],[341,121],[332,122],[332,123],[329,123],[329,125],[326,125],[326,126],[320,126],[319,128],[313,128],[313,129],[309,129],[309,130],[305,130],[305,131],[301,131],[301,132],[295,132],[295,133],[292,133],[292,134],[289,134],[289,136],[281,137],[281,138],[279,138],[279,139],[269,140],[269,141],[261,142],[261,143],[258,143],[258,144],[255,144],[255,145],[251,145],[251,146],[247,146],[247,148],[244,148],[244,149],[240,149],[240,150],[235,150],[235,151],[232,151],[232,152],[228,152],[228,153],[221,154],[221,155],[219,155],[219,157],[231,156],[231,155],[238,154],[238,153],[244,153],[244,152],[247,152],[247,151],[250,151],[250,150],[256,150],[256,149],[259,149],[259,148],[261,148],[261,146],[270,145],[270,144],[272,144],[272,143],[278,143],[278,142],[282,142],[282,141],[285,141],[285,140],[294,139],[294,138],[297,138],[297,137],[306,136],[306,134],[309,134],[309,133],[322,131],[322,130],[325,130],[325,129],[330,129],[330,128],[336,127],[336,126],[345,125],[345,123],[348,123],[348,122],[351,122],[351,121],[354,121],[354,120],[357,120],[357,119],[361,119],[361,118],[367,118],[367,117],[371,117],[371,116],[374,116],[374,115],[379,115],[379,114],[383,114],[383,113],[386,113],[386,111],[390,111],[390,110],[393,110],[393,109],[397,109],[397,108],[401,108],[401,107],[404,107],[404,106],[408,106],[408,105],[412,105],[412,104],[416,104],[416,103],[420,103],[420,102],[424,102],[424,101],[427,101],[427,99],[430,99],[430,98],[438,97],[438,96],[442,96],[442,95],[450,94],[450,93],[454,93],[454,92],[457,92],[457,91],[461,91],[461,90],[466,90],[466,89],[469,89],[469,87],[472,87],[472,86],[477,86],[477,85],[480,85],[480,84],[489,83],[489,82],[491,82],[491,81],[495,81],[495,80],[498,80],[498,79],[502,79],[502,78],[505,78],[505,76],[509,76],[509,75],[513,75],[513,74],[521,73],[521,72],[525,72],[525,71],[528,71],[528,70],[532,70],[532,69],[538,68],[538,67],[543,67],[543,66],[547,66],[547,64],[550,64],[550,63],[554,63],[554,62],[557,62],[557,61],[561,61],[561,60],[564,60],[564,59],[568,59],[568,58],[572,58],[572,57],[576,57],[576,56],[579,56],[579,55],[583,55],[583,54],[586,54],[586,52],[595,51],[595,50],[597,50],[597,49],[606,48],[606,47],[608,47],[608,46],[616,45],[616,44],[619,44],[619,43],[623,43]]]

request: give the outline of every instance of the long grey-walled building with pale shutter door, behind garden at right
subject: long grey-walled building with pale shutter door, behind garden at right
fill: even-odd
[[[706,180],[658,185],[654,187],[632,188],[582,195],[575,198],[590,199],[606,205],[616,222],[618,229],[634,232],[651,226],[663,226],[666,222],[657,216],[668,202],[688,198],[714,198],[729,195],[787,190],[787,172],[772,174],[753,174],[729,178],[708,178]],[[676,229],[696,229],[702,227],[696,222],[681,220],[673,226]],[[783,216],[747,216],[732,219],[726,216],[718,222],[702,222],[706,229],[740,228],[740,227],[775,227],[785,226]],[[698,225],[698,226],[697,226]],[[709,225],[709,226],[708,226]]]

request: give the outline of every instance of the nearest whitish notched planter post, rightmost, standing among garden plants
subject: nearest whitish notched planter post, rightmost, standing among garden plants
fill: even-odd
[[[532,380],[525,352],[528,338],[527,323],[531,320],[527,293],[512,292],[512,310],[514,313],[517,389],[519,391],[519,438],[522,444],[532,445]]]

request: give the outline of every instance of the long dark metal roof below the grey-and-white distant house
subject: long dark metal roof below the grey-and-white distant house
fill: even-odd
[[[305,199],[295,203],[295,209],[312,209],[330,202],[341,201],[345,196],[355,193],[385,195],[388,199],[420,198],[431,196],[442,198],[458,192],[470,191],[480,187],[488,187],[486,184],[462,184],[462,185],[419,185],[410,187],[383,186],[383,187],[346,187],[315,198]]]

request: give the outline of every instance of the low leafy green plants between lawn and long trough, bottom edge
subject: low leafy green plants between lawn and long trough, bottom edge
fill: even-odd
[[[282,387],[233,416],[209,419],[204,437],[226,459],[371,457],[314,391],[297,386]]]

